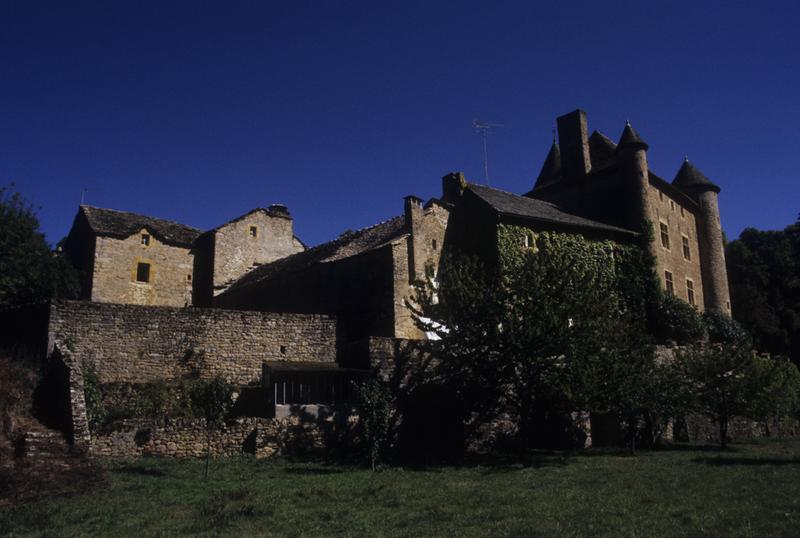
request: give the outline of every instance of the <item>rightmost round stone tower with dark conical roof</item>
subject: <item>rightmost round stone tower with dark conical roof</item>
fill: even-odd
[[[685,159],[672,184],[694,199],[700,206],[697,238],[700,243],[700,266],[706,309],[731,313],[728,272],[725,267],[725,242],[719,221],[717,195],[720,188]]]

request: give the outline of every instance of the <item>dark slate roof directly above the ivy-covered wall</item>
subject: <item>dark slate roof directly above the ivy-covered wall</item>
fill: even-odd
[[[636,232],[625,228],[603,224],[602,222],[567,213],[557,205],[543,200],[527,198],[525,196],[519,196],[510,192],[493,189],[485,185],[475,185],[473,183],[469,183],[467,189],[501,215],[561,224],[576,228],[601,230],[632,236],[637,235]]]

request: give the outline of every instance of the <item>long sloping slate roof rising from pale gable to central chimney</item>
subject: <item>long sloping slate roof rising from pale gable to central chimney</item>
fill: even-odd
[[[382,247],[408,233],[405,218],[394,217],[355,232],[348,231],[327,243],[261,265],[235,280],[227,291],[269,280],[279,274],[294,273],[320,263],[329,263]]]

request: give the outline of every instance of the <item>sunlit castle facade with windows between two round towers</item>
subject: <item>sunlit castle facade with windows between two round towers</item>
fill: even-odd
[[[699,310],[704,308],[703,276],[700,269],[700,242],[698,239],[697,216],[694,211],[666,190],[649,184],[646,191],[646,214],[653,224],[652,252],[656,258],[656,271],[664,289],[664,271],[672,273],[675,295],[684,301],[689,300],[687,279],[694,285],[694,301]],[[669,230],[669,248],[661,244],[660,225],[664,223]],[[683,237],[689,240],[689,257],[683,254]]]

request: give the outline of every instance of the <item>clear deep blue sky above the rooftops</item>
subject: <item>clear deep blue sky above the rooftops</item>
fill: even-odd
[[[797,2],[0,2],[0,185],[51,242],[92,205],[210,228],[284,203],[308,244],[440,194],[528,190],[555,117],[625,120],[729,237],[800,212]]]

